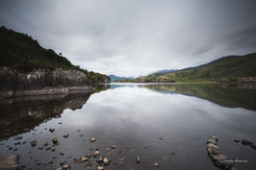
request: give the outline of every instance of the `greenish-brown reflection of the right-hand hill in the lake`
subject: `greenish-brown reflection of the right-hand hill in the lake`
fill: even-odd
[[[256,110],[256,84],[144,85],[155,91],[196,96],[228,108]]]

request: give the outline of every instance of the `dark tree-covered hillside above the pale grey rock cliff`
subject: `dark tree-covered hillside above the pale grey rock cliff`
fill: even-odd
[[[110,78],[106,75],[81,69],[56,54],[51,49],[44,49],[31,36],[14,32],[5,27],[0,28],[0,66],[7,66],[21,72],[30,72],[35,68],[64,70],[76,69],[84,72],[92,83],[104,82]]]

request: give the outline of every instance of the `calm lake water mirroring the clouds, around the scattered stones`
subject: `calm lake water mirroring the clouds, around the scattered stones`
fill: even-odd
[[[23,169],[55,169],[65,161],[71,169],[84,169],[86,162],[73,158],[99,148],[112,160],[106,167],[111,170],[156,169],[154,163],[158,169],[215,170],[206,144],[215,134],[228,159],[247,160],[235,164],[237,169],[252,170],[256,150],[234,139],[256,144],[255,110],[252,84],[111,84],[96,85],[93,94],[2,99],[0,157],[20,155]],[[17,136],[22,139],[14,140]],[[46,150],[54,137],[59,145]],[[90,160],[95,169],[96,158]]]

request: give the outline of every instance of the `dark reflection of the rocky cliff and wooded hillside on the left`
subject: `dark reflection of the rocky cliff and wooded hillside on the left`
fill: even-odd
[[[89,97],[89,93],[82,93],[0,100],[0,139],[28,132],[44,121],[60,117],[64,109],[81,109]]]

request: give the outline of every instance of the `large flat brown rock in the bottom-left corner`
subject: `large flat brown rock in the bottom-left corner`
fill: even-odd
[[[0,158],[0,169],[1,170],[17,170],[18,169],[18,155],[9,155],[4,158]]]

